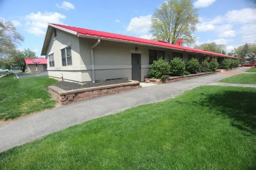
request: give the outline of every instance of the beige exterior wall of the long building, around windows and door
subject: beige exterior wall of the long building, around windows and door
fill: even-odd
[[[61,78],[64,80],[87,82],[92,81],[91,70],[91,47],[97,42],[97,39],[77,37],[75,35],[57,30],[57,39],[54,35],[49,43],[47,55],[54,54],[55,67],[49,67],[49,76]],[[61,49],[71,46],[72,66],[62,67]],[[138,51],[135,51],[138,47]],[[189,53],[180,50],[170,50],[167,48],[149,47],[146,45],[136,45],[124,42],[113,42],[101,40],[100,44],[94,48],[94,68],[95,80],[128,78],[132,80],[132,53],[141,54],[141,81],[149,76],[149,49],[165,51],[167,62],[173,58],[173,52],[183,53],[183,60],[188,61]]]

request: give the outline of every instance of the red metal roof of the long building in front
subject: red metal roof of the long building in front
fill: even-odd
[[[215,55],[215,56],[223,56],[223,57],[241,59],[238,57],[228,56],[228,55],[224,55],[224,54],[220,54],[220,53],[214,53],[211,51],[199,50],[199,49],[195,49],[195,48],[189,48],[189,47],[184,47],[184,46],[179,46],[179,45],[174,45],[174,44],[168,44],[168,43],[162,42],[162,41],[153,41],[153,40],[149,40],[149,39],[125,36],[125,35],[114,34],[114,33],[107,33],[107,32],[103,32],[103,31],[89,30],[89,29],[85,29],[85,28],[71,27],[71,26],[60,25],[60,24],[55,24],[55,23],[51,23],[51,24],[56,25],[58,27],[66,28],[68,30],[76,31],[78,34],[81,34],[81,35],[103,37],[103,38],[130,41],[130,42],[138,42],[138,43],[149,44],[149,45],[157,45],[159,47],[169,47],[169,48],[175,48],[178,50],[192,51],[192,52],[196,52],[196,53],[204,53],[204,54]]]

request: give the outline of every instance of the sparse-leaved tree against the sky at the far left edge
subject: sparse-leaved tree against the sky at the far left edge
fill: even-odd
[[[0,58],[7,58],[16,50],[16,46],[24,41],[11,21],[0,19]]]

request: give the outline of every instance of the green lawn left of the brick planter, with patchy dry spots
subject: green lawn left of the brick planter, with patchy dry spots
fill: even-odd
[[[54,107],[56,101],[45,87],[57,81],[47,76],[14,79],[14,75],[0,78],[0,119],[13,119],[22,114]]]

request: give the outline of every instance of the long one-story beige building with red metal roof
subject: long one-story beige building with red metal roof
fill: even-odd
[[[78,83],[128,78],[144,81],[154,60],[180,57],[202,60],[236,58],[163,41],[49,23],[41,55],[47,56],[48,75]],[[236,58],[239,59],[239,58]]]

